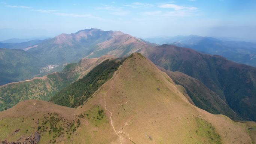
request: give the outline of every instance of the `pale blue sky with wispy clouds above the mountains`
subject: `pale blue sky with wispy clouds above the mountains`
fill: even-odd
[[[0,40],[92,27],[137,37],[256,39],[256,0],[0,0],[0,17]]]

